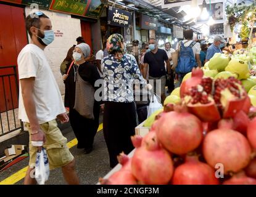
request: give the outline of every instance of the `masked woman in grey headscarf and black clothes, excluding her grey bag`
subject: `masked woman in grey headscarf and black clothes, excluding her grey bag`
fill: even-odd
[[[73,51],[75,62],[70,65],[69,73],[64,74],[63,76],[65,83],[65,107],[70,109],[70,124],[76,139],[78,140],[77,148],[85,149],[85,154],[89,154],[93,150],[94,136],[99,127],[99,102],[94,100],[94,119],[81,116],[80,113],[74,109],[74,105],[75,99],[78,99],[75,94],[77,74],[79,74],[84,81],[89,82],[93,87],[95,81],[101,78],[96,66],[86,61],[90,52],[91,49],[88,44],[81,43],[76,45]]]

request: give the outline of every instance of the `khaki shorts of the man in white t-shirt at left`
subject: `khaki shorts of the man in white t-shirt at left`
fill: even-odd
[[[30,124],[25,123],[28,132],[31,133]],[[60,132],[59,127],[57,127],[56,120],[49,121],[44,124],[40,124],[41,129],[46,135],[46,142],[43,147],[46,149],[49,167],[54,169],[56,167],[66,166],[68,163],[73,161],[74,157],[70,153],[67,147],[67,139]],[[31,145],[31,135],[30,135],[30,167],[35,167],[36,163],[36,153],[38,148]]]

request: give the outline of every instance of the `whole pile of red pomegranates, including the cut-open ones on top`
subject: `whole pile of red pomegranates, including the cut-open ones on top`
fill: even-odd
[[[241,82],[197,68],[180,95],[146,136],[131,137],[133,157],[121,153],[122,168],[101,184],[256,185],[256,109]]]

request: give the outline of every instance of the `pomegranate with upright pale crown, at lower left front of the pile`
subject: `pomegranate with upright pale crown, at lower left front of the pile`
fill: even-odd
[[[135,150],[131,159],[134,177],[142,184],[167,184],[173,175],[170,154],[160,147],[155,132],[147,134],[143,143],[144,145]]]

